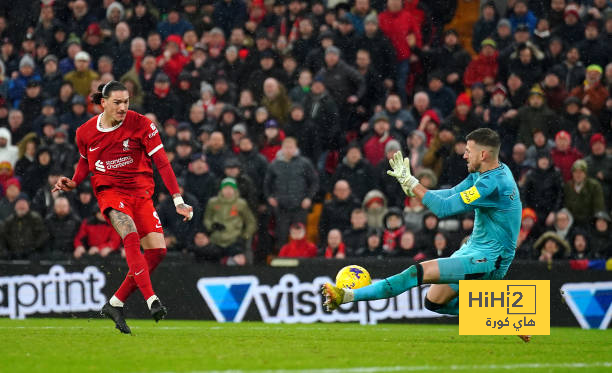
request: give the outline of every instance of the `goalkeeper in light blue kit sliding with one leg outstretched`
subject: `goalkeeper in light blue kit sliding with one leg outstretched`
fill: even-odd
[[[459,314],[459,280],[502,279],[512,259],[521,226],[521,199],[510,169],[499,161],[499,135],[488,128],[466,137],[463,158],[468,177],[450,189],[428,190],[410,173],[410,160],[396,152],[387,173],[407,195],[416,196],[440,218],[475,211],[472,235],[449,258],[417,263],[405,271],[360,289],[322,286],[329,311],[343,303],[395,297],[421,284],[435,284],[425,298],[428,310]],[[523,336],[528,341],[528,336]]]

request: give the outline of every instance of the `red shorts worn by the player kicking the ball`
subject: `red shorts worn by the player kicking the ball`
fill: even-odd
[[[140,237],[144,237],[151,232],[164,233],[161,220],[159,220],[159,215],[155,211],[151,198],[129,195],[116,189],[104,189],[96,193],[96,197],[98,198],[100,211],[102,211],[109,224],[111,222],[108,211],[113,209],[129,215],[134,220]]]

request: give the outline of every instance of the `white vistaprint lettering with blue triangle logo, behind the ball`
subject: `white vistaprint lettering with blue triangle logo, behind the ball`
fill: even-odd
[[[266,323],[356,321],[376,324],[386,319],[440,316],[424,308],[427,286],[411,289],[392,299],[346,304],[330,313],[323,308],[319,290],[329,281],[329,277],[301,281],[294,274],[285,274],[278,283],[264,285],[256,276],[205,277],[198,280],[197,288],[219,322],[241,322],[251,306]]]

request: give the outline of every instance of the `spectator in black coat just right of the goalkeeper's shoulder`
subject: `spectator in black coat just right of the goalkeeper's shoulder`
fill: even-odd
[[[555,211],[563,205],[563,180],[549,153],[540,151],[536,158],[536,167],[527,173],[521,195],[524,207],[535,211],[535,220],[549,227],[554,223]]]

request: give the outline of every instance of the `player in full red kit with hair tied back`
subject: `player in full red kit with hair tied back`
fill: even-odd
[[[72,179],[62,176],[54,190],[70,191],[89,172],[93,174],[91,182],[100,211],[121,236],[129,267],[125,280],[101,314],[111,318],[122,333],[129,334],[123,304],[136,288],[156,322],[168,313],[155,295],[149,277],[166,255],[164,231],[151,200],[155,189],[151,161],[155,162],[183,220],[193,217],[193,208],[183,202],[157,127],[147,117],[128,110],[127,88],[111,81],[101,85],[92,98],[104,111],[77,129],[79,163]]]

